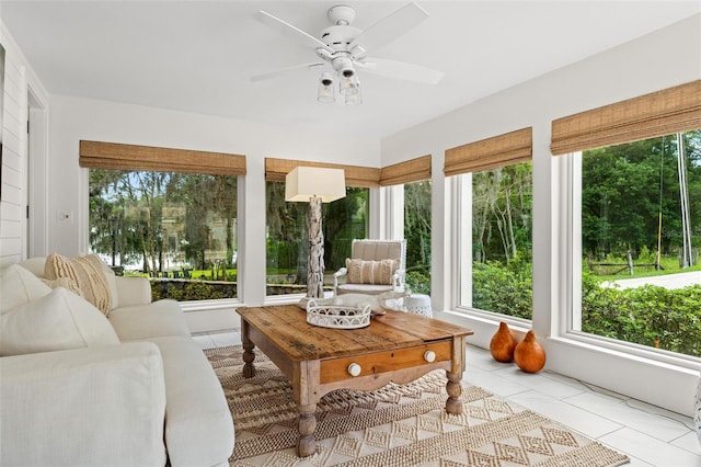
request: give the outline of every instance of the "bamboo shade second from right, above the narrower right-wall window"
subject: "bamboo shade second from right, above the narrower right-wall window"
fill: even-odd
[[[444,173],[450,176],[529,161],[532,140],[533,132],[528,127],[448,149]]]

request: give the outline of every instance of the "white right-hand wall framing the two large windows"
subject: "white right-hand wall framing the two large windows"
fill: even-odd
[[[681,413],[691,413],[699,365],[652,363],[554,339],[566,306],[560,176],[564,158],[550,152],[554,118],[701,79],[701,15],[521,83],[450,114],[382,140],[382,164],[433,153],[433,301],[455,308],[457,259],[450,185],[444,151],[527,126],[533,127],[533,329],[547,340],[547,368],[618,390]],[[452,243],[451,243],[452,242]],[[440,252],[440,254],[436,253]],[[472,343],[487,346],[496,323],[443,314],[475,330]]]

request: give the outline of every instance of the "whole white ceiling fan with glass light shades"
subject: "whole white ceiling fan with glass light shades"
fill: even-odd
[[[266,11],[258,11],[255,18],[260,22],[311,48],[318,59],[313,62],[258,75],[251,78],[251,80],[263,81],[298,69],[323,67],[324,71],[319,78],[319,101],[335,102],[334,82],[337,81],[338,93],[345,96],[346,104],[359,104],[361,102],[357,69],[388,78],[429,84],[436,84],[441,80],[443,71],[420,65],[367,56],[368,53],[391,43],[428,18],[428,13],[418,4],[409,3],[365,31],[352,25],[356,16],[356,12],[352,7],[343,4],[332,7],[326,15],[333,25],[324,29],[320,38],[317,38]]]

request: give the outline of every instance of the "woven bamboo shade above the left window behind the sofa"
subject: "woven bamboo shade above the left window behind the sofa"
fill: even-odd
[[[80,167],[245,175],[245,156],[118,143],[80,141]]]

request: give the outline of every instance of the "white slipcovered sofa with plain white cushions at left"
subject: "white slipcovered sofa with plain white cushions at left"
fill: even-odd
[[[228,465],[231,413],[177,303],[104,266],[101,312],[47,265],[1,272],[0,465]]]

